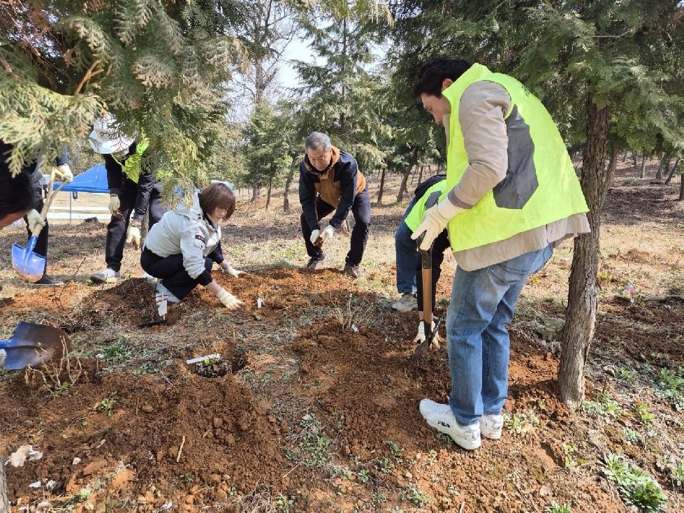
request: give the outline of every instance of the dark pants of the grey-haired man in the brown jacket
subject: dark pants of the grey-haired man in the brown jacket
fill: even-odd
[[[323,219],[323,217],[326,217],[330,212],[333,212],[333,210],[335,210],[335,207],[330,205],[330,203],[323,201],[321,196],[316,198],[316,215],[318,216],[318,221]],[[351,230],[351,246],[349,247],[349,253],[347,253],[345,262],[358,266],[358,264],[361,263],[361,259],[363,259],[363,251],[368,242],[368,229],[370,227],[370,194],[368,194],[368,189],[356,194],[354,204],[351,205],[351,214],[354,215],[355,224],[354,229]],[[312,229],[309,228],[309,224],[307,224],[303,214],[301,222],[307,254],[312,259],[322,260],[325,257],[323,250],[311,243]]]

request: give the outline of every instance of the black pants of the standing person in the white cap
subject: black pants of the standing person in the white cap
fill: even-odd
[[[124,178],[119,194],[119,201],[123,219],[114,217],[107,225],[107,243],[105,245],[105,262],[107,267],[116,271],[121,270],[121,261],[124,258],[124,245],[126,245],[126,230],[129,227],[129,220],[131,219],[131,212],[136,205],[136,198],[138,197],[138,185],[133,180]],[[150,219],[150,226],[159,222],[161,216],[164,215],[166,209],[161,203],[161,194],[156,187],[152,188],[150,192],[150,203],[147,206],[147,215]],[[169,289],[170,290],[170,289]]]

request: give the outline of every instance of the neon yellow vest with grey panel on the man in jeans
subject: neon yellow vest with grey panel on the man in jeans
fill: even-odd
[[[521,82],[481,64],[473,64],[442,92],[451,104],[446,190],[460,182],[469,166],[458,106],[465,89],[480,80],[502,85],[511,96],[511,109],[504,115],[509,168],[502,182],[451,219],[453,251],[506,240],[589,210],[565,143],[546,108]]]

